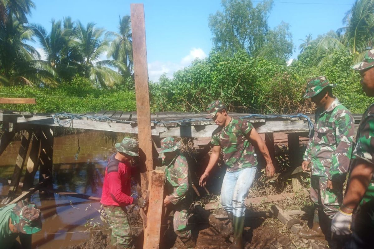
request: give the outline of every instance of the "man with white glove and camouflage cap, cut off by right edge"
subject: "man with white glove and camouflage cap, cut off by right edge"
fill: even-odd
[[[374,49],[367,51],[364,60],[352,68],[359,71],[365,94],[374,97]],[[362,115],[349,170],[347,190],[339,212],[332,220],[331,231],[334,236],[341,236],[350,234],[352,229],[352,236],[345,248],[373,248],[374,104]]]

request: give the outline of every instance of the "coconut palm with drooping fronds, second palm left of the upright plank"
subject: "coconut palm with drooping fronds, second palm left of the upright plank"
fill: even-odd
[[[99,60],[109,46],[107,39],[102,39],[104,29],[95,27],[92,22],[86,27],[77,22],[77,50],[80,55],[78,72],[96,83],[96,87],[111,87],[122,81],[122,76],[107,66],[116,65],[111,60]]]

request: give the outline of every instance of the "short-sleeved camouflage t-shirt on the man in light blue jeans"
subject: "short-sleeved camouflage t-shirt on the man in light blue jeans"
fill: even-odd
[[[227,171],[238,171],[257,165],[255,149],[246,138],[253,125],[246,120],[232,118],[226,127],[213,132],[211,143],[220,145]]]

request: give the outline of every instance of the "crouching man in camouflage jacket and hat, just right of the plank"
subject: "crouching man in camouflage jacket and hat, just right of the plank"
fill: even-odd
[[[165,167],[168,195],[164,199],[166,210],[174,211],[173,228],[187,248],[194,248],[196,242],[188,228],[189,207],[191,205],[191,178],[186,157],[179,150],[180,143],[174,138],[166,137],[161,140],[160,157]]]

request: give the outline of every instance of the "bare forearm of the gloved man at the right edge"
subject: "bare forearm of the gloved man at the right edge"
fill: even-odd
[[[343,205],[340,207],[343,212],[350,214],[352,213],[350,209],[355,209],[359,205],[373,177],[373,173],[374,164],[360,158],[357,159],[356,166],[349,177],[348,189],[344,196]]]

